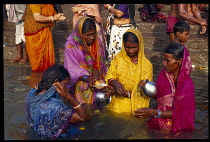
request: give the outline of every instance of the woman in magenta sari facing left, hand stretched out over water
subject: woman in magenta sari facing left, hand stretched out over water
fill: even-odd
[[[194,130],[195,95],[190,77],[192,68],[187,48],[179,43],[170,43],[163,54],[162,65],[156,85],[155,109],[140,108],[135,111],[139,119],[147,117],[150,128],[162,133],[177,133]]]

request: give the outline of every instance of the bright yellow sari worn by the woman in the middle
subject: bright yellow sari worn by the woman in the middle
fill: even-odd
[[[149,107],[150,98],[143,95],[138,84],[145,79],[152,81],[153,76],[153,66],[144,55],[144,40],[141,32],[137,29],[128,29],[126,32],[132,32],[138,37],[138,63],[135,65],[131,62],[123,43],[122,50],[114,57],[108,69],[106,82],[114,78],[125,87],[126,91],[131,92],[131,98],[112,96],[107,109],[117,113],[133,113],[137,108]]]

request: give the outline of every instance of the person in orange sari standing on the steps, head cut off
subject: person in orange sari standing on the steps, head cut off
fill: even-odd
[[[26,49],[32,71],[42,72],[55,64],[55,53],[50,27],[53,21],[65,19],[56,14],[52,4],[28,4],[24,23]]]

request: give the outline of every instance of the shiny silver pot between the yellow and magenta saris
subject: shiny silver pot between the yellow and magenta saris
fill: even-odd
[[[141,87],[144,95],[147,97],[153,97],[157,94],[157,87],[154,82],[145,80],[145,85]]]

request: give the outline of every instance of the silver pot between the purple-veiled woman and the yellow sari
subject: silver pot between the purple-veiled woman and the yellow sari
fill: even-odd
[[[106,97],[105,92],[99,91],[96,93],[96,103],[98,104],[107,105],[111,102],[111,100],[112,100],[111,96]]]

